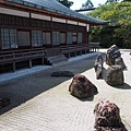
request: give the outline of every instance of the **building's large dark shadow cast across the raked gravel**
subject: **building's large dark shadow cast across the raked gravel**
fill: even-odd
[[[11,105],[1,108],[0,115],[71,79],[64,76],[50,76],[52,72],[66,70],[71,71],[74,74],[83,73],[93,68],[95,58],[96,56],[70,63],[60,64],[51,69],[46,69],[44,71],[34,73],[32,75],[26,75],[0,84],[0,98],[8,97],[11,99]]]

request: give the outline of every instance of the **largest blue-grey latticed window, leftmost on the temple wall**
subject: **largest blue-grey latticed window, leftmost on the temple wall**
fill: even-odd
[[[17,48],[16,29],[1,28],[2,49]]]

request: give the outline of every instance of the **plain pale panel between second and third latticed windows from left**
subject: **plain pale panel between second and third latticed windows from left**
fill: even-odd
[[[44,45],[50,45],[51,44],[51,34],[48,32],[43,33],[43,43]]]

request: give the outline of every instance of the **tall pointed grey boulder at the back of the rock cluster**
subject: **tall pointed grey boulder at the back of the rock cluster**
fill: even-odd
[[[116,45],[112,45],[106,53],[106,63],[108,66],[114,66],[115,64],[115,59],[121,57],[121,53],[119,51],[119,48]]]

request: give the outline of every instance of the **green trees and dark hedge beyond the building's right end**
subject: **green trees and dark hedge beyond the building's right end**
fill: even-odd
[[[108,25],[92,27],[90,40],[100,41],[103,47],[116,44],[119,48],[131,48],[131,2],[111,2],[88,13],[108,21]]]

